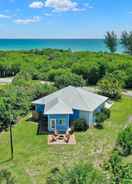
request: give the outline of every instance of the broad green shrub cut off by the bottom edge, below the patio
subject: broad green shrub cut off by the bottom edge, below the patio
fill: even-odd
[[[55,168],[49,174],[47,184],[107,184],[108,180],[91,165],[79,163],[70,168]]]

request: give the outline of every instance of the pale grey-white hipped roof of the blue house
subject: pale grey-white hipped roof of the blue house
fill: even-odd
[[[33,104],[44,104],[45,114],[67,114],[72,113],[72,109],[94,111],[107,99],[81,87],[68,86],[34,101]]]

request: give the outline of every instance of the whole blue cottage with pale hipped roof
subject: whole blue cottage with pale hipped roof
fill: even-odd
[[[47,119],[49,132],[65,132],[70,128],[70,122],[77,119],[84,119],[92,126],[96,112],[104,108],[107,99],[84,88],[68,86],[32,103],[35,112]]]

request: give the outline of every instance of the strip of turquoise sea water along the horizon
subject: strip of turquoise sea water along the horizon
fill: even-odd
[[[0,50],[30,50],[35,48],[107,51],[103,39],[0,39]],[[120,44],[118,44],[118,52],[122,52]]]

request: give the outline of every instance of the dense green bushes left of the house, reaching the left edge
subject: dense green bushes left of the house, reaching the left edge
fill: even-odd
[[[53,85],[31,80],[27,73],[17,74],[11,85],[0,90],[0,128],[8,128],[10,122],[16,123],[31,110],[34,99],[55,90]]]

